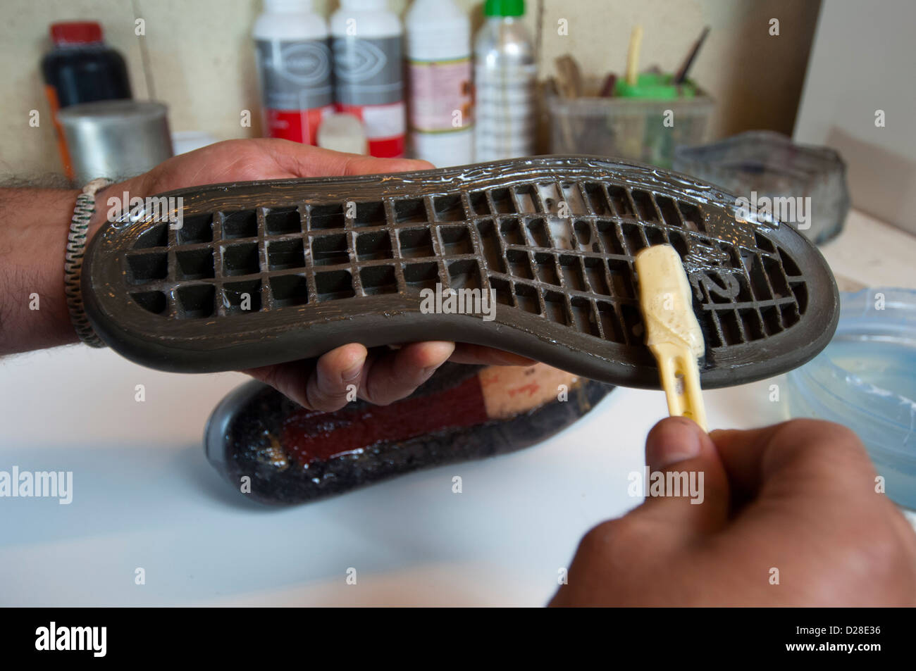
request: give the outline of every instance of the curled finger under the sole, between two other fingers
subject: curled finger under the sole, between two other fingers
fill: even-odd
[[[387,406],[413,394],[454,351],[453,342],[411,342],[370,361],[363,373],[362,396]]]

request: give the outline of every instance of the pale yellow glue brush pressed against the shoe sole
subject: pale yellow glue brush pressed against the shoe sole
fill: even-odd
[[[646,344],[659,363],[668,412],[672,417],[690,417],[705,431],[696,363],[705,345],[681,256],[670,244],[657,244],[639,252],[635,265]]]

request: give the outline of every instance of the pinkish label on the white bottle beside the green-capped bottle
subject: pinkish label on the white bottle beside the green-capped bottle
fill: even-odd
[[[410,130],[453,133],[474,124],[471,59],[409,60]]]

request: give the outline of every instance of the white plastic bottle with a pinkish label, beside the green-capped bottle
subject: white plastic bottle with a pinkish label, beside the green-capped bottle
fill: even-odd
[[[470,18],[453,0],[414,0],[404,24],[413,156],[438,168],[474,163]]]

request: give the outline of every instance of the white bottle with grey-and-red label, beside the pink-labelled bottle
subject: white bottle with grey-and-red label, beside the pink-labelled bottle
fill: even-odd
[[[331,16],[334,102],[363,122],[374,157],[404,156],[402,32],[387,0],[341,0]]]

